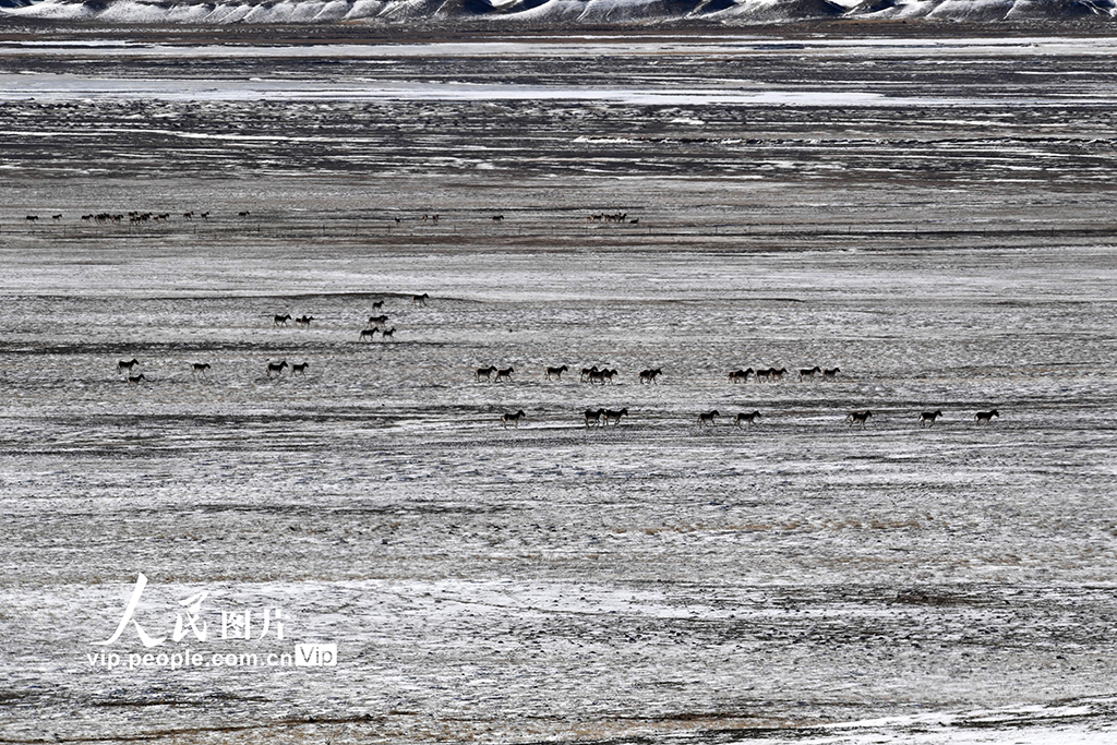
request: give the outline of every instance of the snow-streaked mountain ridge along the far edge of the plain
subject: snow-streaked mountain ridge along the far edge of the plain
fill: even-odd
[[[828,18],[1023,21],[1117,17],[1117,0],[0,0],[0,13],[109,23],[307,23],[347,20],[624,25],[710,20],[783,23]]]

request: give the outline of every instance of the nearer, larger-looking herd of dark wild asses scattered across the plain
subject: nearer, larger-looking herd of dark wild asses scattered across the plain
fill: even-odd
[[[413,307],[426,307],[428,299],[430,299],[430,295],[427,293],[423,293],[422,295],[412,295],[411,305]],[[372,309],[379,312],[383,309],[383,306],[384,306],[384,300],[376,300],[375,303],[372,304]],[[285,327],[290,323],[292,319],[293,318],[289,313],[283,315],[277,314],[274,316],[271,324],[275,327]],[[314,316],[311,315],[302,315],[297,318],[294,318],[294,322],[297,326],[306,328],[311,326],[311,323],[313,321]],[[376,315],[369,316],[369,327],[361,331],[357,342],[365,342],[365,341],[371,342],[373,341],[373,338],[378,333],[380,334],[381,340],[383,341],[386,341],[389,338],[394,338],[395,327],[393,326],[391,328],[385,328],[386,325],[388,325],[386,314],[378,313]],[[139,375],[131,374],[133,369],[139,364],[140,361],[135,357],[133,357],[132,360],[121,360],[116,365],[116,370],[118,373],[123,373],[126,375],[130,385],[139,386],[146,380],[143,373],[140,373]],[[278,378],[283,375],[283,371],[288,367],[290,369],[292,375],[303,375],[309,367],[309,363],[300,362],[300,363],[288,364],[286,360],[279,360],[277,362],[269,360],[267,362],[267,366],[265,367],[265,373],[269,379],[273,375]],[[204,378],[206,375],[208,375],[210,369],[211,365],[207,362],[194,362],[191,374],[194,375],[195,378]],[[571,367],[565,364],[557,366],[548,366],[543,372],[543,380],[562,381],[563,373],[567,373],[570,372],[570,370]],[[513,380],[512,376],[515,372],[516,370],[512,365],[508,365],[507,367],[498,367],[497,365],[490,364],[485,367],[477,367],[474,371],[474,382],[510,383]],[[837,366],[823,369],[819,365],[814,365],[813,367],[800,369],[798,374],[798,380],[799,382],[802,383],[814,380],[815,375],[820,375],[823,381],[836,381],[838,380],[839,373],[841,373],[841,369]],[[636,380],[641,385],[645,384],[652,385],[657,383],[659,376],[662,374],[663,370],[661,367],[649,367],[647,370],[641,370],[637,374]],[[757,383],[776,382],[783,380],[783,378],[787,374],[789,371],[786,367],[758,367],[758,369],[747,367],[744,370],[738,369],[729,372],[727,375],[727,380],[732,384],[747,383],[750,378],[752,378]],[[591,385],[596,384],[604,386],[607,384],[613,384],[619,375],[620,371],[618,371],[615,367],[610,367],[608,365],[600,367],[598,365],[592,365],[590,367],[582,367],[579,371],[580,381]],[[628,408],[622,408],[618,410],[604,409],[604,408],[586,409],[583,412],[583,420],[585,422],[585,427],[588,428],[593,426],[607,427],[609,424],[617,427],[621,423],[621,419],[628,416],[629,416]],[[918,417],[918,424],[920,428],[933,427],[935,424],[935,421],[942,416],[943,416],[942,410],[924,411]],[[512,424],[513,427],[519,427],[521,420],[525,419],[526,417],[527,414],[523,410],[518,410],[515,412],[505,412],[504,414],[500,416],[500,423],[505,428],[507,428],[508,424]],[[712,411],[700,412],[697,418],[697,426],[699,428],[714,427],[717,423],[717,419],[719,417],[723,417],[723,414],[716,409]],[[868,409],[865,411],[852,411],[846,416],[846,422],[848,422],[849,427],[863,428],[870,417],[872,417],[872,411]],[[987,426],[991,423],[994,417],[1000,417],[1000,412],[997,412],[996,409],[993,409],[991,411],[978,411],[974,414],[974,422],[978,427]],[[751,411],[751,412],[742,411],[738,412],[735,417],[733,417],[732,422],[734,427],[741,427],[743,423],[754,426],[758,423],[758,420],[761,418],[762,417],[760,411]]]

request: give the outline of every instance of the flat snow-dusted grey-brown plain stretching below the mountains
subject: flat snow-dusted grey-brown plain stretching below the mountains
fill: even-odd
[[[0,741],[1117,737],[1117,77],[1091,41],[27,40],[0,57]],[[496,93],[438,93],[470,82]],[[800,104],[741,94],[773,89]],[[130,210],[170,218],[80,220]],[[362,343],[380,299],[395,341]],[[842,372],[796,380],[815,364]],[[598,407],[629,417],[585,428]],[[128,669],[133,629],[95,642],[141,572],[152,636],[209,593],[211,636],[155,652],[338,663]],[[283,641],[218,638],[265,609]]]

